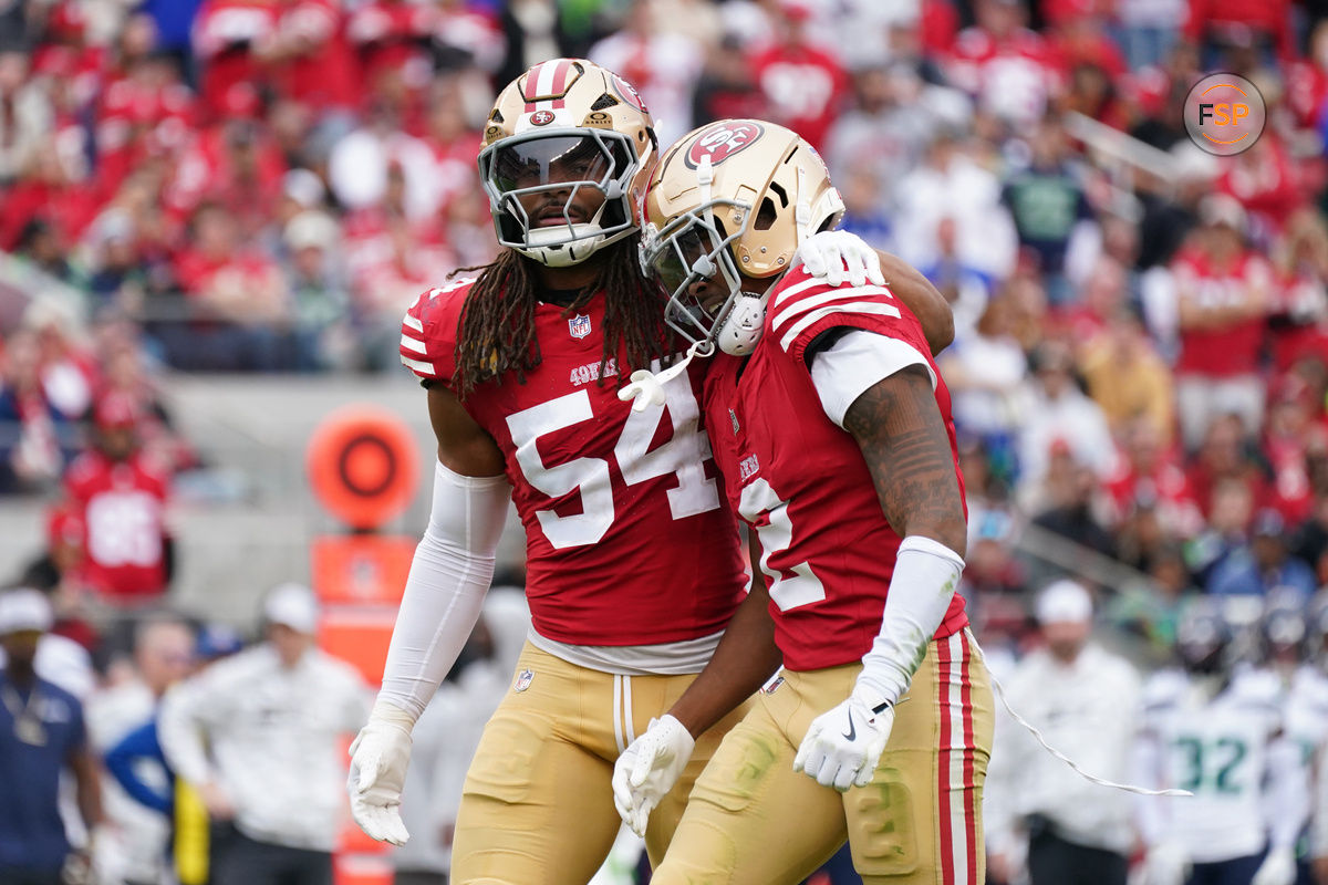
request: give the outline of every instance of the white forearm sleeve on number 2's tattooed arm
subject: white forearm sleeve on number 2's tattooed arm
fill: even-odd
[[[910,535],[899,544],[880,633],[862,657],[858,683],[895,703],[927,655],[959,586],[964,560],[940,541]]]

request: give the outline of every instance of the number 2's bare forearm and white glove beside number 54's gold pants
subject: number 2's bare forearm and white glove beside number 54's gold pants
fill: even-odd
[[[756,537],[752,563],[761,561]],[[645,734],[633,740],[614,766],[614,804],[632,832],[645,836],[645,824],[687,767],[696,738],[746,701],[780,667],[774,645],[770,594],[757,573],[752,590],[724,630],[714,655],[683,697]]]

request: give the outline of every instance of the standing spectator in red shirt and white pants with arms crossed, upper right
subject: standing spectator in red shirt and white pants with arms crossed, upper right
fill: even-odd
[[[1234,413],[1247,434],[1263,421],[1263,349],[1271,271],[1246,245],[1246,215],[1230,196],[1211,195],[1199,204],[1202,227],[1177,255],[1177,317],[1181,357],[1177,361],[1177,405],[1181,438],[1198,447],[1208,425]]]

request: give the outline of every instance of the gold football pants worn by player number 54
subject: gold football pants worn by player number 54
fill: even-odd
[[[695,678],[600,673],[527,642],[466,775],[452,882],[586,885],[622,824],[614,762]],[[651,815],[652,861],[664,856],[692,784],[745,711],[746,705],[697,739],[683,778]]]

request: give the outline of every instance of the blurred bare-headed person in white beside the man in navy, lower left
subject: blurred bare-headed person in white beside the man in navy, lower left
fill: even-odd
[[[194,662],[194,632],[181,620],[161,618],[139,624],[134,634],[133,675],[130,679],[88,699],[88,736],[98,758],[125,735],[149,722],[166,690],[183,679]],[[159,784],[165,792],[169,784]],[[126,882],[145,885],[161,881],[166,869],[170,821],[134,801],[114,778],[101,779],[102,807],[113,845],[116,868]]]

